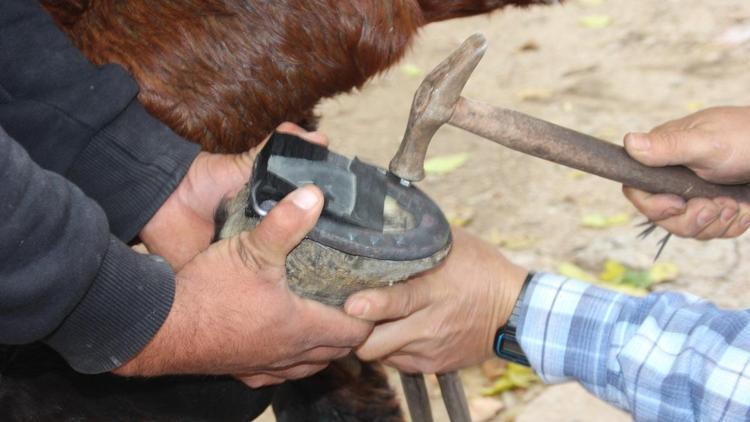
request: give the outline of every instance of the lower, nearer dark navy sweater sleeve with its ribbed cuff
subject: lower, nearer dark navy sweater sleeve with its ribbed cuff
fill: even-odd
[[[166,263],[112,236],[96,202],[0,128],[0,344],[45,341],[105,372],[151,340],[173,297]]]

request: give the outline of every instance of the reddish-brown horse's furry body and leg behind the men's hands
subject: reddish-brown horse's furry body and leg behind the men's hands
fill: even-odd
[[[154,116],[213,152],[245,151],[283,121],[314,128],[322,98],[393,65],[427,23],[550,2],[40,1],[90,60],[134,75]],[[401,420],[382,371],[352,362],[277,389],[279,420]]]

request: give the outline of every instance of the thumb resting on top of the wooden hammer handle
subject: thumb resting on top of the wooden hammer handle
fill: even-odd
[[[696,129],[664,129],[625,135],[625,150],[628,154],[651,167],[701,167],[711,156],[711,148],[708,136]]]

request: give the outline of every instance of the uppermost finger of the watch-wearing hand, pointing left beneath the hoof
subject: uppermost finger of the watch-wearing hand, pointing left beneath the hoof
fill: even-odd
[[[407,317],[430,304],[428,283],[412,280],[393,287],[364,290],[347,299],[347,314],[367,321]]]

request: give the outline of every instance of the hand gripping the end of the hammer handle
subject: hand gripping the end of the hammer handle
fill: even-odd
[[[649,133],[625,136],[628,154],[654,167],[684,165],[724,184],[750,182],[750,107],[711,108],[667,122]],[[737,237],[750,227],[750,205],[731,198],[650,194],[624,187],[625,196],[651,221],[682,237]]]

